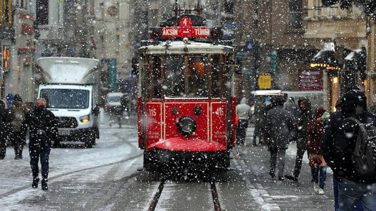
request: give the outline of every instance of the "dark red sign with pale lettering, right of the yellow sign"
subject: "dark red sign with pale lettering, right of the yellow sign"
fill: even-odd
[[[323,90],[323,71],[308,69],[300,71],[299,74],[300,91],[322,91]]]

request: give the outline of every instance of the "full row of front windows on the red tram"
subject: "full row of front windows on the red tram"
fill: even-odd
[[[147,98],[220,98],[226,93],[223,54],[149,55]]]

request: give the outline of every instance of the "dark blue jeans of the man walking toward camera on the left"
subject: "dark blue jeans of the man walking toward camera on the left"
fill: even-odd
[[[51,145],[30,145],[29,146],[29,155],[30,155],[30,167],[33,173],[33,179],[39,178],[38,172],[38,162],[39,157],[41,159],[42,167],[42,179],[47,180],[48,171],[49,171],[49,157],[50,157]]]

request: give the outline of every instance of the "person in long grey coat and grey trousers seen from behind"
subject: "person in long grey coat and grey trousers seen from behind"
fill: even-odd
[[[290,131],[293,129],[293,119],[283,107],[282,98],[276,98],[275,107],[268,111],[265,118],[265,139],[270,149],[270,176],[275,178],[278,157],[278,179],[284,180],[285,154],[288,148]]]

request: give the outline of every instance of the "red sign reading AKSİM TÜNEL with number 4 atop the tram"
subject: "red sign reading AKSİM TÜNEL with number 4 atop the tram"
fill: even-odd
[[[162,37],[209,37],[210,28],[192,26],[191,18],[180,18],[179,27],[163,27]]]

